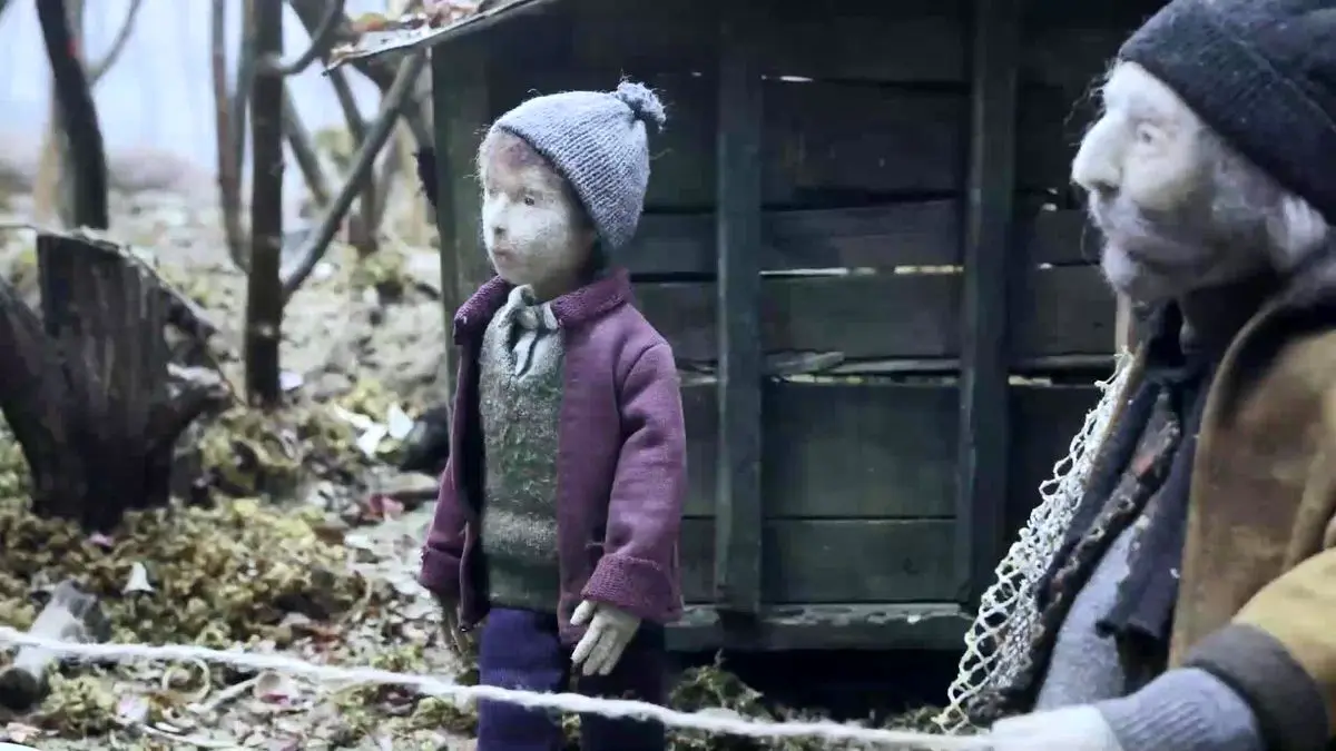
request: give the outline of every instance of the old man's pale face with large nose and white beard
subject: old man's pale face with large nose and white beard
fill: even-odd
[[[1289,198],[1237,155],[1164,83],[1120,63],[1104,115],[1071,163],[1105,237],[1101,265],[1141,302],[1185,295],[1279,261]],[[1301,203],[1301,202],[1300,202]],[[1307,206],[1307,204],[1304,204]]]

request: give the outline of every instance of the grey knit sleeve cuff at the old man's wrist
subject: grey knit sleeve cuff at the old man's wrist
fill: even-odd
[[[1122,751],[1265,751],[1248,703],[1202,669],[1169,671],[1096,706]]]

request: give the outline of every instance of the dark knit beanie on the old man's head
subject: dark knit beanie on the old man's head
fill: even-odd
[[[1336,223],[1336,1],[1173,0],[1118,57]]]

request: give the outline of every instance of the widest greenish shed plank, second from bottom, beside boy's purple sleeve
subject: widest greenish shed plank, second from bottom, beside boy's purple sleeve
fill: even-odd
[[[762,497],[771,518],[947,517],[957,390],[902,384],[767,382]],[[715,513],[715,386],[683,389],[687,516]]]

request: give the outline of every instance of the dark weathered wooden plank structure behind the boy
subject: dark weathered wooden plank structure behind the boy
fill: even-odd
[[[656,87],[620,258],[684,371],[679,648],[955,648],[1114,351],[1067,188],[1153,3],[512,0],[432,45],[448,309],[474,152],[533,94]]]

